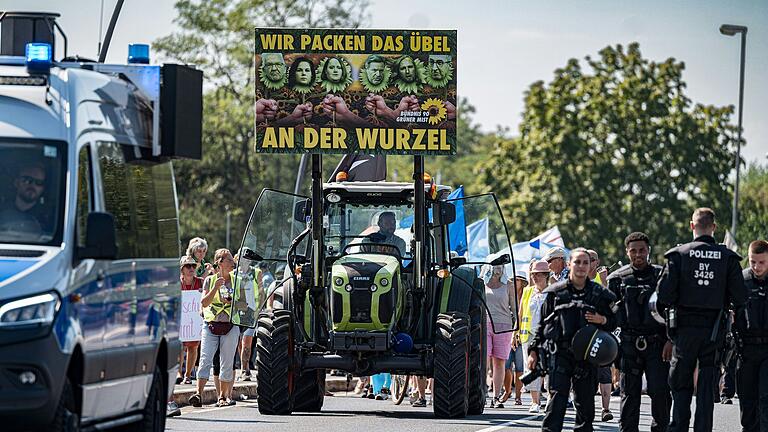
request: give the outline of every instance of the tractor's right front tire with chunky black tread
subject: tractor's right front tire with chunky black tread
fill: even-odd
[[[435,331],[435,416],[467,415],[469,389],[469,317],[465,313],[439,314]]]

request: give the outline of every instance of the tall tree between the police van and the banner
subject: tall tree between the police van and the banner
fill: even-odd
[[[225,206],[230,248],[239,247],[262,188],[293,190],[299,158],[253,152],[254,27],[358,27],[368,2],[354,0],[178,0],[178,30],[153,44],[166,60],[205,74],[203,160],[177,161],[181,238],[204,236],[223,247]]]

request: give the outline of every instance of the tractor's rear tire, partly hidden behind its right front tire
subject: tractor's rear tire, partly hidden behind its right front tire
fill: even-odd
[[[483,303],[472,296],[469,311],[469,407],[467,414],[480,415],[485,409],[485,398],[488,395],[488,384],[485,381],[485,371],[488,362],[486,336],[487,322]]]

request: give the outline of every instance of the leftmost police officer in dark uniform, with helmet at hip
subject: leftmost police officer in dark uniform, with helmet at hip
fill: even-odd
[[[575,431],[591,431],[595,418],[597,366],[576,359],[571,340],[576,331],[588,324],[612,331],[616,319],[612,311],[616,300],[610,291],[589,280],[589,253],[584,248],[571,251],[568,278],[547,287],[547,299],[541,307],[542,321],[531,341],[528,369],[536,367],[540,350],[548,350],[549,395],[542,431],[560,431],[573,388],[576,408]],[[545,318],[546,317],[546,318]],[[543,353],[542,353],[543,354]]]

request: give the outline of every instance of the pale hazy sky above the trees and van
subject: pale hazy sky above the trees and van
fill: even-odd
[[[103,31],[115,2],[104,0]],[[61,13],[69,53],[97,57],[100,0],[2,0],[0,8]],[[686,94],[694,102],[737,105],[740,40],[718,28],[745,25],[742,156],[768,162],[768,1],[371,0],[370,12],[370,28],[457,29],[459,96],[475,106],[483,130],[501,126],[513,134],[531,83],[551,81],[570,58],[631,42],[646,58],[685,62]],[[172,32],[174,17],[173,1],[126,1],[107,62],[124,63],[129,43],[151,44]]]

